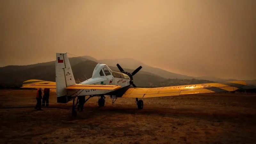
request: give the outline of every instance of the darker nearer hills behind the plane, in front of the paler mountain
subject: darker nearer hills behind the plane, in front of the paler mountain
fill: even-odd
[[[74,77],[79,79],[79,81],[84,81],[86,76],[88,79],[92,77],[92,72],[97,65],[96,62],[90,60],[81,60],[77,58],[69,58],[71,63],[71,68],[74,74]],[[80,61],[80,62],[79,62]],[[10,68],[10,72],[0,72],[2,75],[0,77],[1,84],[21,84],[23,81],[28,79],[40,79],[55,82],[55,62],[54,65],[49,62],[50,65],[46,65],[45,63],[36,64],[36,65],[28,65],[21,66],[21,68],[17,69],[15,66],[8,67]],[[16,68],[13,70],[12,68]],[[114,71],[119,71],[118,68],[109,67]],[[126,69],[126,71],[133,72],[133,69]],[[149,84],[159,83],[160,81],[164,81],[163,77],[150,74],[148,72],[139,71],[134,76],[134,84],[137,86],[148,86]],[[78,81],[78,80],[77,80]]]

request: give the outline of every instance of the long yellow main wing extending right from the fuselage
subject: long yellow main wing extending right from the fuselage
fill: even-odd
[[[246,85],[245,81],[220,82],[209,84],[191,84],[156,88],[130,88],[122,98],[150,98],[177,96],[185,94],[211,93],[211,92],[231,92],[236,91]]]

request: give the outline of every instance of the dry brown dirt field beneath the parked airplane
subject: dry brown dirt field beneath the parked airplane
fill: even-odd
[[[0,90],[0,107],[35,106],[36,91]],[[98,97],[71,117],[71,110],[0,109],[0,143],[255,143],[256,95],[200,94],[135,99]],[[72,102],[50,106],[71,108]]]

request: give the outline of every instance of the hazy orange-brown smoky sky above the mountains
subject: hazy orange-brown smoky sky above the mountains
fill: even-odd
[[[68,52],[256,79],[255,7],[255,0],[0,0],[0,67]]]

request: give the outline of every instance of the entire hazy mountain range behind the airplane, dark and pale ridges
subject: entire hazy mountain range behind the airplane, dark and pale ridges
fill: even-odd
[[[188,81],[188,79],[204,80],[204,83],[220,82],[220,81],[235,81],[235,79],[221,79],[214,76],[186,76],[172,73],[161,68],[148,66],[138,60],[131,58],[123,59],[103,59],[97,60],[91,56],[72,57],[69,58],[74,77],[77,82],[84,81],[92,77],[92,72],[97,65],[97,62],[104,63],[113,71],[119,72],[116,67],[118,63],[125,71],[132,72],[134,69],[142,66],[142,69],[134,76],[135,84],[138,86],[158,86],[163,85],[168,79],[177,79],[177,82],[182,83],[197,83],[199,81]],[[26,66],[5,66],[0,68],[0,83],[2,84],[20,84],[28,79],[42,79],[55,81],[55,61],[37,63]],[[170,82],[170,80],[169,80]],[[201,82],[201,81],[200,81]],[[172,83],[176,83],[172,80]],[[256,80],[247,81],[248,84],[256,85]]]

